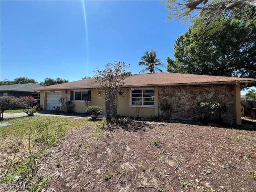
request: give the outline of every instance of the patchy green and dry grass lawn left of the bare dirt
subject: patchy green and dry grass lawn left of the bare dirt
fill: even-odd
[[[99,124],[87,118],[32,116],[4,120],[0,135],[0,183],[32,186],[41,191],[50,177],[34,178],[38,160],[54,148],[68,130]],[[0,187],[1,191],[1,187]],[[4,191],[6,188],[4,188]]]

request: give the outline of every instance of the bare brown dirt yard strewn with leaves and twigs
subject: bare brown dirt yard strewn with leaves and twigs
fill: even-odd
[[[39,162],[44,191],[256,191],[256,131],[122,123],[69,131]]]

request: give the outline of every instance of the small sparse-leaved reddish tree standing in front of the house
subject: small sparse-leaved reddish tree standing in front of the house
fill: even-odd
[[[122,88],[125,84],[125,78],[131,73],[126,72],[130,64],[124,62],[110,62],[105,65],[104,70],[94,70],[96,88],[99,88],[99,95],[112,107],[112,117],[117,118],[117,108],[121,97],[124,97],[127,89]],[[105,92],[102,92],[105,90]]]

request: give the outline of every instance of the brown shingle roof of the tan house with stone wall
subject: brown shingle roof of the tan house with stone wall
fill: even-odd
[[[94,78],[62,83],[57,85],[45,86],[38,90],[53,89],[82,89],[95,88]],[[149,73],[136,74],[126,78],[124,87],[141,87],[141,86],[172,86],[172,85],[198,85],[198,84],[233,84],[233,83],[256,83],[256,79],[223,77],[209,75],[194,75],[181,73]]]

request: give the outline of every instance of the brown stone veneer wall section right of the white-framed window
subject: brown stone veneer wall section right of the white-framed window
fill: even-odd
[[[158,116],[166,115],[160,109],[162,99],[171,102],[171,119],[191,121],[196,117],[194,109],[198,102],[217,102],[226,105],[226,110],[222,110],[223,122],[234,124],[234,86],[232,84],[160,86],[158,87]]]

